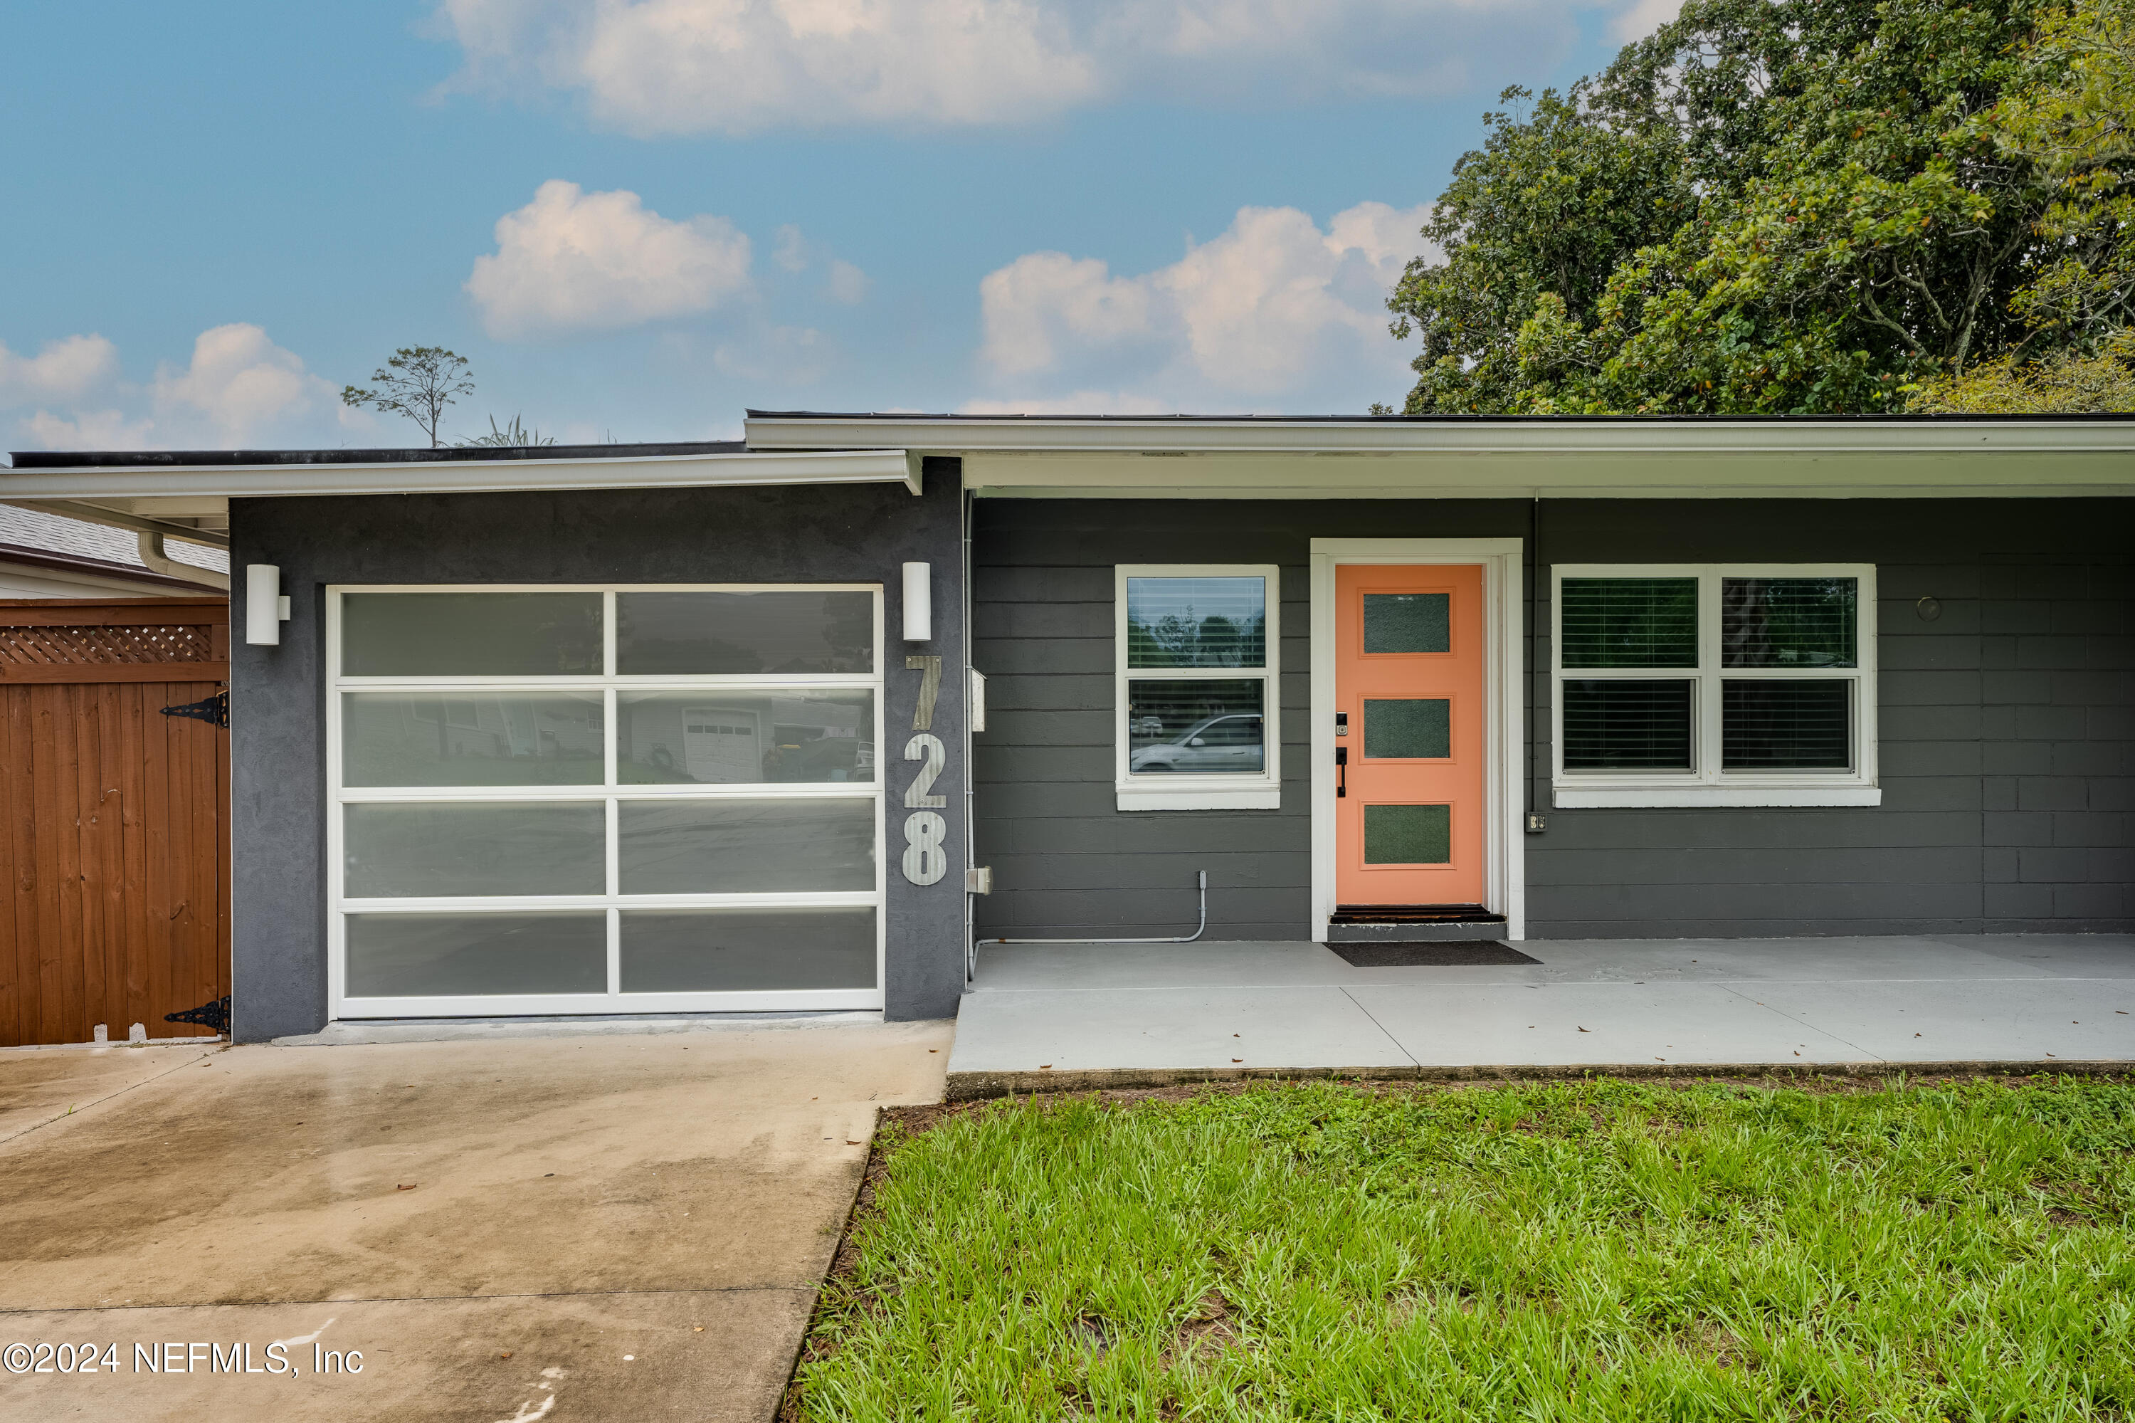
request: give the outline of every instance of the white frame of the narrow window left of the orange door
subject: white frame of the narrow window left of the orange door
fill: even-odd
[[[1127,579],[1266,579],[1266,667],[1127,669]],[[1283,583],[1275,564],[1114,564],[1112,566],[1112,782],[1121,810],[1281,810],[1283,806]],[[1127,682],[1262,679],[1266,754],[1258,776],[1136,776],[1127,769]]]

